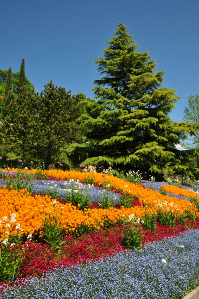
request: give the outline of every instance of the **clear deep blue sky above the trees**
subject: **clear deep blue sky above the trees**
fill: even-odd
[[[17,72],[24,58],[35,91],[52,80],[93,98],[93,61],[120,21],[138,51],[150,51],[156,71],[167,72],[163,87],[182,97],[170,115],[180,122],[188,96],[199,93],[198,12],[198,0],[2,1],[0,68]]]

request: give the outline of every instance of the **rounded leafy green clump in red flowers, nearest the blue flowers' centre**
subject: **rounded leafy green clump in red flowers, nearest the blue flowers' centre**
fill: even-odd
[[[141,248],[142,232],[138,225],[129,223],[123,226],[123,239],[121,244],[127,249]]]

